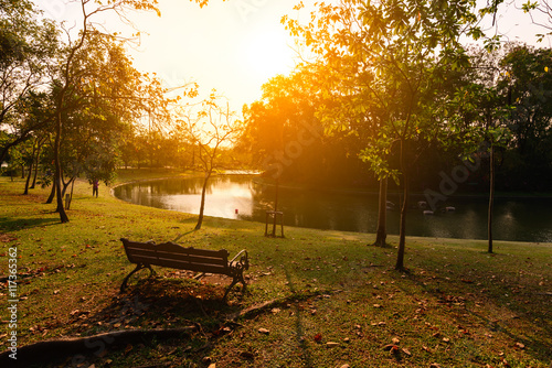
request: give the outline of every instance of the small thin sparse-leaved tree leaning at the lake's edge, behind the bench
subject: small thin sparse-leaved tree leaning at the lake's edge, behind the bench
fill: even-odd
[[[223,162],[222,150],[232,145],[241,133],[242,122],[236,120],[230,106],[221,106],[221,97],[215,91],[204,99],[198,112],[181,109],[177,122],[188,141],[199,149],[199,166],[204,173],[201,191],[200,214],[195,230],[201,229],[205,209],[205,195],[209,178],[220,169]]]

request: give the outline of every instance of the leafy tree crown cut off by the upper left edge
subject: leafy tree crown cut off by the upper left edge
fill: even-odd
[[[57,30],[40,15],[31,1],[0,0],[0,127],[9,131],[0,141],[0,162],[49,123],[46,117],[25,118],[59,47]]]

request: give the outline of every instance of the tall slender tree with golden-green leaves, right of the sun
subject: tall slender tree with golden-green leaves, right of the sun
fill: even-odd
[[[438,139],[446,123],[439,118],[443,96],[436,87],[447,69],[459,68],[466,62],[460,35],[466,31],[479,34],[471,28],[477,20],[474,8],[468,0],[342,0],[338,6],[319,4],[318,14],[312,14],[307,25],[284,20],[330,69],[337,65],[337,71],[349,71],[341,77],[359,87],[352,94],[351,87],[341,88],[340,94],[365,90],[379,108],[381,126],[362,155],[380,177],[401,180],[397,270],[404,268],[410,167],[418,156],[416,150]],[[360,99],[358,108],[364,100]],[[385,159],[395,144],[399,167],[393,169]]]

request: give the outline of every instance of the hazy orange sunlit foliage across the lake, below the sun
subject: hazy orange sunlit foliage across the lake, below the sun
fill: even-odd
[[[245,131],[237,149],[250,152],[267,178],[320,185],[359,182],[361,142],[347,131],[325,131],[317,110],[330,104],[311,66],[276,76],[263,86],[263,99],[244,108]]]

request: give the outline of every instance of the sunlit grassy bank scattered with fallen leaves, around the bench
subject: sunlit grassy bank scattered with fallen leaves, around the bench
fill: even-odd
[[[170,176],[123,172],[120,181]],[[10,248],[18,252],[18,344],[136,328],[195,326],[179,338],[91,348],[52,366],[71,367],[550,367],[552,245],[408,238],[406,267],[372,235],[286,228],[140,207],[100,187],[75,186],[61,225],[47,191],[0,178],[0,278],[8,300]],[[206,204],[209,206],[209,203]],[[118,294],[134,267],[119,238],[247,249],[247,293],[223,303],[225,279],[194,281],[157,269]],[[390,237],[396,243],[395,237]],[[140,275],[140,273],[139,273]],[[270,303],[266,303],[270,302]],[[265,303],[265,304],[263,304]],[[242,313],[241,317],[233,318]],[[9,346],[0,312],[0,350]],[[46,366],[46,365],[43,365]]]

